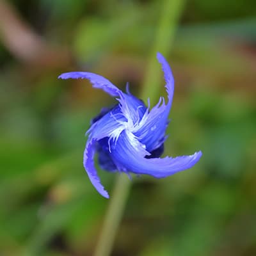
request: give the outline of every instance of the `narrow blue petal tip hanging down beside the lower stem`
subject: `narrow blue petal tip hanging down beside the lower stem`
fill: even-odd
[[[109,198],[108,192],[104,189],[102,184],[100,183],[100,178],[97,175],[97,170],[94,166],[93,157],[95,154],[95,140],[89,140],[86,143],[86,148],[84,150],[84,169],[86,170],[89,179],[91,180],[93,186],[100,195]]]

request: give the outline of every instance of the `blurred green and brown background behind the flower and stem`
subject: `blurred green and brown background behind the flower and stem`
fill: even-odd
[[[57,77],[97,72],[139,95],[161,6],[0,1],[1,256],[92,255],[109,200],[84,172],[84,132],[115,100]],[[166,179],[133,178],[112,255],[256,255],[255,10],[184,2],[165,56],[175,96],[164,154],[203,157]],[[117,174],[99,175],[111,196]]]

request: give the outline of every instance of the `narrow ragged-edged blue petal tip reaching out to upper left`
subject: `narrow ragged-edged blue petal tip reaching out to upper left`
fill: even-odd
[[[67,72],[63,73],[58,78],[61,79],[88,79],[92,83],[94,88],[99,88],[104,90],[104,92],[108,93],[109,95],[116,97],[119,96],[122,91],[119,90],[114,84],[112,84],[108,79],[102,77],[100,75],[90,73],[90,72]]]

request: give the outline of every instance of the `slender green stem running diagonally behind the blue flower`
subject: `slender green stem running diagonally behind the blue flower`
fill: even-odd
[[[157,84],[161,81],[161,68],[159,68],[159,64],[156,62],[156,52],[159,51],[164,56],[167,56],[182,12],[183,3],[184,0],[163,0],[163,11],[156,31],[156,41],[150,53],[148,68],[141,92],[141,98],[144,100],[147,99],[147,97],[150,97],[151,100],[158,98],[157,91],[159,86],[157,86]],[[113,195],[109,202],[108,211],[104,219],[102,232],[95,250],[95,256],[110,255],[130,188],[131,181],[126,175],[118,175]]]

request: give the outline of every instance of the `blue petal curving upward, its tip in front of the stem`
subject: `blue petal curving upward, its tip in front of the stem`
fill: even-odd
[[[134,129],[134,134],[140,138],[141,143],[147,145],[148,151],[152,151],[159,147],[159,140],[163,140],[164,138],[174,92],[174,79],[168,62],[159,52],[157,53],[157,60],[161,63],[164,72],[168,103],[165,104],[164,98],[161,97],[154,108],[145,112],[145,115],[140,120],[140,124]]]

